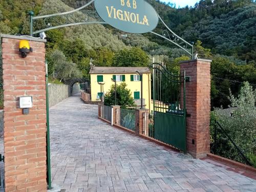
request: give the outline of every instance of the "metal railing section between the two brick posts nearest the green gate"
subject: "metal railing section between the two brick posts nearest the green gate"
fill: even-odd
[[[120,109],[120,125],[135,131],[135,111]]]

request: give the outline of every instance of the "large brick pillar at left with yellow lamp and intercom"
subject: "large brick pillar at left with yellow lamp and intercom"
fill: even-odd
[[[4,150],[6,191],[46,191],[46,73],[45,40],[1,35],[4,83]],[[20,39],[33,53],[22,58]],[[32,96],[28,115],[19,97]]]

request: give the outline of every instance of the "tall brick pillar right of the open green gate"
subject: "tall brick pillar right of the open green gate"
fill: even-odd
[[[180,62],[181,73],[185,70],[190,76],[190,82],[186,82],[186,144],[187,152],[195,158],[205,157],[210,150],[210,62]]]

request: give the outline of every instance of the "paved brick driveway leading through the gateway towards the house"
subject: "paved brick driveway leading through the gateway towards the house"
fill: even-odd
[[[49,191],[256,191],[256,180],[100,121],[79,97],[50,109],[50,137]]]

